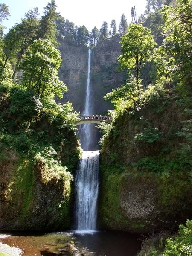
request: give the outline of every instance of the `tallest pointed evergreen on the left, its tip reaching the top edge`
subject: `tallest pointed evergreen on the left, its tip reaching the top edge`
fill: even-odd
[[[51,0],[50,3],[44,8],[44,15],[40,20],[40,30],[39,30],[39,38],[48,39],[55,46],[58,45],[56,37],[57,37],[57,29],[55,20],[58,16],[56,12],[56,3],[55,0]]]

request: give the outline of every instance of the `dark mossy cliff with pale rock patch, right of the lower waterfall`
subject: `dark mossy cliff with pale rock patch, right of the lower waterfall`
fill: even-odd
[[[182,130],[181,102],[157,95],[119,116],[104,140],[102,228],[147,233],[174,229],[192,218],[190,157],[182,153],[184,142],[177,136]]]

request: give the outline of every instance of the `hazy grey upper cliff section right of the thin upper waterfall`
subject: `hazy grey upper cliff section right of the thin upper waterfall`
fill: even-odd
[[[117,58],[121,55],[119,44],[120,36],[115,35],[110,39],[99,42],[92,50],[91,59],[91,87],[93,90],[93,105],[95,113],[105,113],[112,109],[112,105],[105,102],[103,97],[113,88],[125,82],[125,73],[118,71]]]

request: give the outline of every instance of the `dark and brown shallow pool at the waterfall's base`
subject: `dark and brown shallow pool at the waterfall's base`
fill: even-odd
[[[136,256],[141,236],[115,231],[93,233],[12,233],[0,241],[23,250],[23,256],[53,256],[68,242],[87,256]]]

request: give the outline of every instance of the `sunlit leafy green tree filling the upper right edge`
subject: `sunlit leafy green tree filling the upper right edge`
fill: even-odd
[[[169,57],[172,76],[178,84],[192,84],[192,0],[176,0],[175,6],[163,8],[166,34],[164,51]]]

